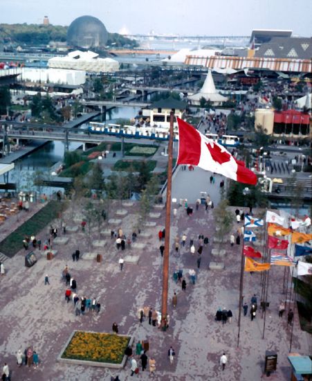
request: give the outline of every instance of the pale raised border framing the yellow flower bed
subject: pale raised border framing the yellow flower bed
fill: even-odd
[[[62,348],[61,353],[59,353],[59,355],[57,356],[57,361],[58,362],[62,362],[62,363],[65,363],[65,364],[75,364],[75,365],[100,366],[100,367],[113,368],[113,369],[122,369],[125,366],[126,361],[127,361],[127,356],[126,355],[122,356],[122,361],[119,364],[116,364],[116,363],[113,363],[113,362],[100,362],[100,361],[91,361],[91,360],[80,360],[80,359],[75,359],[75,358],[64,357],[64,353],[66,351],[66,348],[69,346],[69,344],[71,344],[71,341],[74,338],[74,336],[77,336],[76,335],[77,333],[84,333],[86,335],[88,335],[88,334],[98,334],[99,336],[101,336],[101,335],[107,335],[108,337],[114,337],[114,336],[116,336],[116,337],[127,337],[127,338],[129,338],[129,342],[128,342],[127,346],[132,346],[132,344],[134,343],[134,337],[133,336],[128,336],[128,335],[111,335],[111,334],[108,334],[108,333],[96,333],[96,332],[92,332],[92,331],[74,330],[73,333],[71,333],[71,336],[68,338],[66,344]],[[125,346],[125,348],[127,346]],[[122,353],[124,353],[125,352],[125,348],[123,348],[123,347],[120,348],[120,351],[122,351]]]

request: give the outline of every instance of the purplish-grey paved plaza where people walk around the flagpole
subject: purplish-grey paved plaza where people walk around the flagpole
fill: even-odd
[[[194,172],[181,172],[183,177],[189,177],[192,184]],[[183,181],[187,181],[187,178]],[[214,185],[219,188],[218,182]],[[209,186],[208,186],[209,190]],[[212,190],[210,189],[212,193]],[[212,197],[213,198],[213,197]],[[114,204],[113,209],[120,209],[120,204]],[[133,229],[138,204],[129,206],[128,214],[123,218],[121,227],[128,236]],[[235,208],[234,208],[235,209]],[[158,210],[156,210],[158,211]],[[75,206],[75,215],[79,215],[79,206]],[[113,218],[111,213],[110,218]],[[116,218],[116,216],[115,216]],[[154,220],[149,218],[149,220]],[[66,212],[67,227],[80,225],[71,216],[71,207]],[[79,221],[79,218],[77,219]],[[282,278],[283,267],[273,267],[270,270],[270,287],[268,300],[270,308],[266,317],[266,334],[262,339],[263,320],[258,310],[255,321],[250,321],[250,314],[242,316],[241,340],[237,348],[237,317],[239,301],[239,270],[241,246],[226,249],[224,260],[226,269],[223,271],[209,270],[208,264],[212,258],[212,238],[215,232],[212,211],[205,212],[200,206],[192,216],[187,217],[185,210],[178,209],[176,218],[172,217],[171,250],[169,259],[169,330],[163,332],[149,326],[145,319],[140,325],[136,312],[138,308],[152,306],[160,310],[162,290],[162,260],[159,253],[158,230],[165,224],[165,210],[156,221],[155,228],[144,231],[152,233],[151,238],[138,236],[137,242],[145,243],[145,249],[126,249],[125,254],[140,256],[138,265],[125,263],[120,272],[117,251],[114,240],[106,238],[107,242],[98,252],[103,254],[103,262],[79,260],[73,263],[71,254],[79,248],[82,254],[86,251],[97,251],[89,248],[86,233],[67,233],[69,242],[64,247],[57,245],[57,256],[47,261],[44,256],[30,268],[24,266],[24,251],[14,258],[6,260],[6,276],[0,278],[0,361],[8,362],[12,370],[12,380],[59,381],[59,380],[110,380],[111,375],[119,375],[120,380],[145,380],[147,372],[141,372],[130,377],[129,364],[122,371],[89,366],[61,364],[56,361],[64,343],[73,330],[93,330],[111,332],[113,321],[118,323],[119,332],[134,335],[135,342],[141,339],[149,340],[147,356],[156,359],[155,380],[192,381],[192,380],[260,380],[263,377],[264,355],[266,350],[277,351],[277,372],[268,380],[289,380],[290,366],[287,355],[291,329],[286,322],[286,313],[282,319],[278,317],[279,302],[283,299]],[[59,220],[55,221],[60,228]],[[233,211],[233,231],[237,229]],[[59,229],[60,231],[60,229]],[[174,253],[174,237],[176,234],[187,235],[187,245],[179,253]],[[203,249],[201,268],[196,269],[196,257],[190,254],[189,240],[199,234],[208,236],[210,244]],[[44,240],[48,237],[48,227],[39,234]],[[61,234],[62,236],[62,234]],[[98,239],[98,233],[93,234]],[[195,239],[196,247],[198,240]],[[219,258],[219,257],[218,257]],[[217,258],[217,260],[218,260]],[[101,303],[100,314],[86,314],[75,317],[73,305],[64,300],[66,286],[61,281],[62,269],[68,265],[71,275],[77,281],[79,296],[95,297]],[[197,272],[195,285],[186,276],[186,292],[173,281],[172,274],[176,269],[194,268]],[[44,285],[44,276],[49,275],[51,285]],[[261,292],[260,274],[245,274],[244,295],[246,300],[255,293]],[[173,310],[171,298],[178,294],[178,304]],[[221,325],[214,321],[217,308],[231,309],[232,323]],[[293,329],[293,351],[308,354],[308,337],[300,330],[297,312],[295,311]],[[170,365],[167,358],[169,346],[176,351],[174,364]],[[38,369],[17,367],[15,354],[21,348],[33,346],[39,354],[41,364]],[[221,371],[219,358],[223,351],[228,356],[225,371]]]

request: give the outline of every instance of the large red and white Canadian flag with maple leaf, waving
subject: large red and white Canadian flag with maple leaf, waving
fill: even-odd
[[[199,166],[241,183],[257,184],[257,176],[245,167],[244,161],[236,160],[223,145],[206,138],[192,125],[180,118],[176,120],[178,121],[178,164]]]

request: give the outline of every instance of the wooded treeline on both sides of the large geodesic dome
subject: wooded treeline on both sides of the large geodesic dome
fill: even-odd
[[[68,26],[42,24],[0,24],[0,42],[4,44],[48,45],[51,41],[66,42]],[[109,33],[107,45],[136,47],[138,43],[118,33]]]

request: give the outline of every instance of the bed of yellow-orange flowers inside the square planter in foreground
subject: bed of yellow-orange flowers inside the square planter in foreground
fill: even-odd
[[[129,336],[77,331],[62,358],[120,364],[129,340]]]

